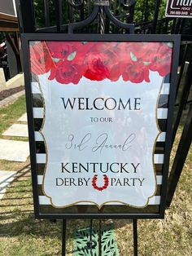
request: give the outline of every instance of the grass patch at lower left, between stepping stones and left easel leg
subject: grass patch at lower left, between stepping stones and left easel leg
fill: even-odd
[[[34,219],[29,170],[20,174],[1,201],[1,255],[56,255],[60,249],[60,223]]]

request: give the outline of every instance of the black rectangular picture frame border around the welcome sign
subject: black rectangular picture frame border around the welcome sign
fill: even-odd
[[[22,50],[24,59],[24,82],[26,92],[26,105],[28,114],[28,137],[30,148],[30,160],[33,180],[33,202],[35,218],[164,218],[165,198],[168,183],[168,166],[169,155],[171,151],[172,141],[172,116],[175,103],[175,95],[177,88],[177,66],[180,49],[179,35],[140,35],[140,34],[52,34],[52,33],[23,33],[21,34]],[[172,73],[170,77],[170,92],[168,99],[168,120],[164,150],[164,172],[162,180],[162,191],[159,206],[159,213],[139,213],[139,214],[42,214],[38,200],[37,185],[37,160],[36,160],[36,144],[34,137],[33,123],[33,98],[31,90],[31,72],[29,60],[29,42],[30,41],[103,41],[103,42],[172,42]]]

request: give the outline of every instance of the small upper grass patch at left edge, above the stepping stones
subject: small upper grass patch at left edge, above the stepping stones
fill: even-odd
[[[13,104],[0,108],[0,135],[26,112],[25,96],[20,96]]]

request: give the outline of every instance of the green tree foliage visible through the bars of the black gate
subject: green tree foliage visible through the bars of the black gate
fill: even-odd
[[[55,25],[55,0],[49,0],[50,7],[50,25]],[[74,0],[74,2],[78,3],[80,0]],[[126,0],[124,0],[126,3]],[[129,2],[129,0],[128,0]],[[84,0],[83,12],[84,17],[89,15],[88,11],[88,1]],[[126,15],[127,9],[120,7],[120,0],[110,0],[111,12],[114,15],[118,15],[118,17]],[[161,5],[159,7],[159,19],[164,17],[166,7],[166,0],[161,0]],[[91,2],[91,9],[94,8],[94,0]],[[68,0],[62,0],[62,23],[68,24],[69,20],[80,21],[81,20],[81,11],[80,8],[72,8],[73,11],[70,10],[70,6]],[[45,26],[45,8],[44,8],[44,0],[34,0],[34,10],[37,27]],[[142,23],[146,21],[152,21],[155,12],[155,0],[136,0],[135,11],[134,11],[134,22]],[[72,15],[70,17],[70,15]],[[119,18],[120,19],[120,18]],[[122,19],[124,21],[124,19]]]

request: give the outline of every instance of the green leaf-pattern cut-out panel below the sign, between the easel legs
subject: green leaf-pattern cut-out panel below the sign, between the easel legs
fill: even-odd
[[[98,229],[93,227],[92,240],[97,242],[95,248],[88,248],[87,242],[90,239],[90,229],[80,229],[75,231],[73,256],[98,256]],[[119,256],[116,238],[113,227],[107,226],[102,228],[102,256]]]

